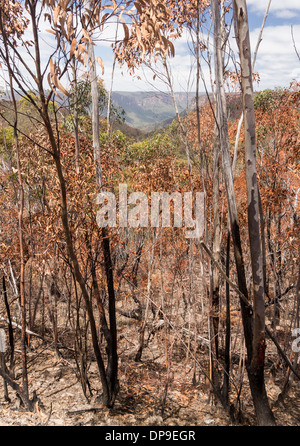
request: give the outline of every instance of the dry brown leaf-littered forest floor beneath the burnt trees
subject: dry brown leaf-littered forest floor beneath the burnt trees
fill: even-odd
[[[204,376],[194,377],[191,357],[180,346],[173,348],[172,362],[167,368],[164,343],[157,334],[145,348],[141,362],[135,362],[137,336],[128,333],[129,322],[119,330],[120,392],[113,409],[101,407],[101,393],[96,364],[91,360],[88,370],[92,396],[85,398],[76,364],[70,350],[58,355],[51,344],[32,338],[28,352],[28,376],[31,393],[37,395],[34,412],[20,406],[14,391],[11,401],[4,400],[0,380],[0,426],[230,426],[232,423],[222,406],[211,397]],[[131,328],[132,334],[134,327]],[[16,353],[16,363],[20,363]],[[197,353],[198,361],[206,367],[207,354]],[[276,355],[276,352],[275,352]],[[92,356],[91,356],[92,358]],[[198,363],[198,364],[199,364]],[[16,370],[18,374],[20,370]],[[272,377],[267,373],[267,392],[279,425],[300,425],[300,385],[293,381],[284,402],[278,402],[284,375]],[[234,393],[234,392],[232,392]],[[89,394],[90,395],[90,394]],[[255,424],[247,379],[242,390],[241,424]]]

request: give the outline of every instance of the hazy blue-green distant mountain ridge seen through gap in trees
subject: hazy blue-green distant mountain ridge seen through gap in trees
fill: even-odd
[[[192,95],[176,92],[175,98],[179,113],[194,108],[195,99]],[[171,94],[163,92],[128,92],[114,91],[112,102],[115,107],[125,110],[125,122],[140,130],[155,130],[163,127],[164,123],[172,121],[176,113]]]

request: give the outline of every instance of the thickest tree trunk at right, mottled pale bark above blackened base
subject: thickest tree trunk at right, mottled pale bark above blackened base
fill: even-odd
[[[252,64],[247,5],[234,0],[234,25],[239,47],[245,128],[245,166],[247,180],[248,232],[253,281],[253,341],[248,369],[250,387],[259,424],[274,425],[265,389],[265,300],[264,273],[259,225],[259,188],[256,172],[256,130],[253,103]]]

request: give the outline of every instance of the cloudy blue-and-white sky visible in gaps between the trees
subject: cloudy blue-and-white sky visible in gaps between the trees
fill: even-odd
[[[257,43],[268,1],[247,0],[252,52]],[[95,46],[96,57],[100,56],[104,62],[105,71],[102,78],[107,89],[111,87],[114,60],[111,42],[115,39],[116,27],[115,22],[108,23],[99,36],[99,39],[97,39],[97,45]],[[44,64],[47,63],[55,47],[54,36],[46,32],[47,29],[49,29],[49,23],[41,20],[39,35],[42,61]],[[272,0],[255,65],[255,72],[258,72],[260,76],[260,82],[254,84],[255,90],[288,87],[293,79],[300,81],[300,60],[294,48],[292,29],[294,43],[300,54],[300,0]],[[122,32],[121,26],[118,28],[119,38],[122,37]],[[28,35],[26,37],[30,39],[30,31],[28,30],[27,33]],[[207,38],[207,28],[205,29],[205,25],[202,37]],[[195,57],[191,55],[189,50],[190,41],[190,36],[187,32],[184,32],[182,37],[174,42],[175,57],[169,60],[169,64],[174,91],[184,91],[194,96],[196,79]],[[233,27],[229,42],[232,51],[237,55]],[[213,51],[212,37],[209,47]],[[23,54],[23,56],[28,65],[32,66],[33,61],[30,55]],[[205,85],[201,82],[200,90],[204,91],[206,86],[210,91],[211,81],[207,63],[203,60],[201,66]],[[99,75],[101,75],[100,71],[99,67]],[[141,79],[138,79],[138,77]],[[159,80],[153,82],[153,73],[149,69],[143,68],[137,70],[136,75],[132,77],[129,75],[126,66],[121,68],[116,64],[113,79],[114,91],[149,91],[156,89],[161,91],[168,90],[167,86]]]

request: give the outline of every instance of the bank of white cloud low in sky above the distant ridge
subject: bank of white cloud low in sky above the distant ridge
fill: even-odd
[[[250,33],[252,51],[256,46],[260,29],[257,28]],[[300,52],[300,25],[293,27],[295,43]],[[196,70],[195,59],[188,53],[187,42],[189,36],[185,33],[181,39],[175,43],[176,55],[170,59],[170,67],[173,79],[173,88],[175,91],[190,91],[194,94]],[[232,48],[237,55],[237,47],[235,39],[231,39]],[[212,45],[212,42],[211,42]],[[211,50],[213,48],[211,47]],[[97,49],[101,55],[101,47]],[[238,57],[237,57],[238,58]],[[110,86],[111,80],[112,57],[108,56],[105,60],[105,85]],[[202,61],[203,75],[206,86],[210,90],[210,76],[207,65]],[[213,67],[212,67],[213,70]],[[127,68],[123,67],[124,76],[121,75],[119,67],[116,69],[114,79],[115,90],[150,90],[152,87],[147,82],[152,82],[153,74],[145,69],[137,71],[142,80],[131,78],[127,73]],[[266,26],[263,31],[262,42],[259,46],[258,56],[255,65],[255,71],[260,75],[260,83],[255,84],[255,88],[262,90],[266,88],[274,88],[276,86],[288,87],[293,79],[300,79],[300,61],[296,55],[290,26]],[[146,74],[146,76],[144,75]],[[190,79],[190,82],[189,82]],[[166,85],[157,81],[157,88],[167,90]],[[204,86],[201,82],[200,89],[203,91]]]

